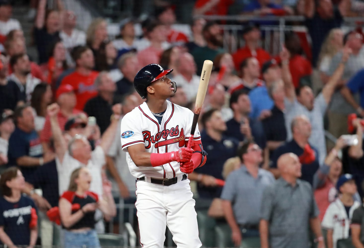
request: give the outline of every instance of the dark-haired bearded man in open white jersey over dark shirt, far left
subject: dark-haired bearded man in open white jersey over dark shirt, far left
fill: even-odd
[[[28,55],[20,53],[10,58],[10,66],[13,73],[9,76],[9,82],[16,83],[21,92],[21,99],[23,101],[30,101],[31,94],[40,79],[31,75],[31,65]]]

